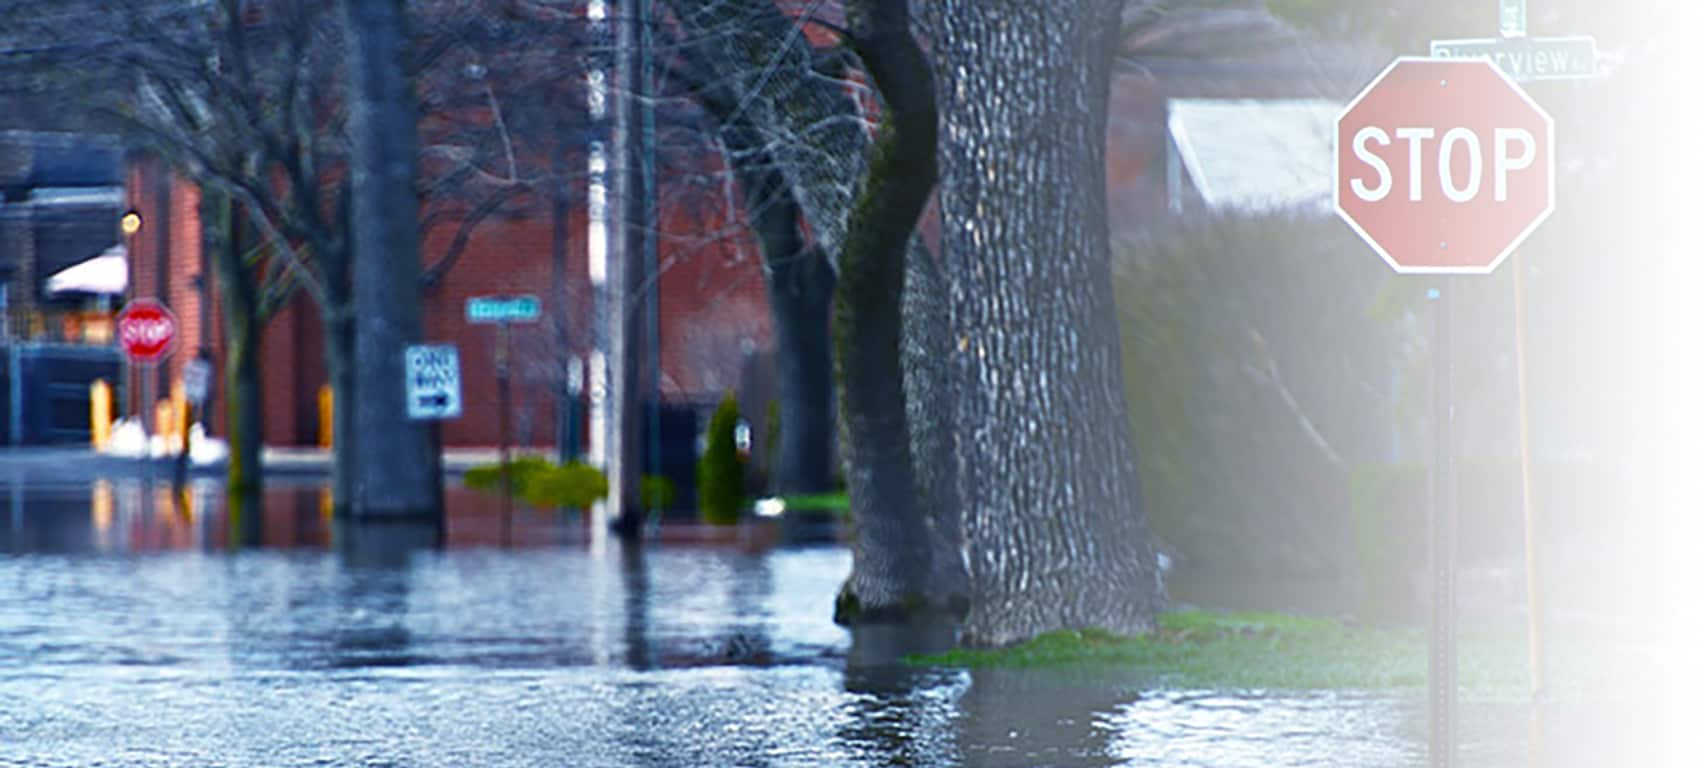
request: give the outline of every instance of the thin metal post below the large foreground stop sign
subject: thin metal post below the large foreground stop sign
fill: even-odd
[[[1428,622],[1428,765],[1459,761],[1459,627],[1457,530],[1459,500],[1452,454],[1452,291],[1455,277],[1440,277],[1430,291],[1435,313],[1433,394],[1430,401],[1428,569],[1433,600]]]

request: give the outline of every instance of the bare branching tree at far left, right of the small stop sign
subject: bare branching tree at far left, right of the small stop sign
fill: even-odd
[[[306,2],[71,0],[0,3],[5,66],[65,92],[162,156],[202,190],[207,246],[224,326],[230,493],[262,488],[260,338],[304,289],[335,335],[343,297],[343,187],[330,170],[340,141],[330,99],[338,27]],[[333,353],[340,347],[330,345]]]

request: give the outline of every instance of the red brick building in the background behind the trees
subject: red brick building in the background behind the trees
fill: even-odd
[[[151,296],[178,319],[178,348],[162,365],[160,392],[182,376],[199,348],[221,359],[224,340],[212,268],[206,258],[197,187],[162,167],[138,158],[129,165],[128,197],[143,226],[128,238],[131,297]],[[544,323],[513,326],[513,437],[525,445],[554,445],[556,391],[563,352],[590,355],[590,297],[586,211],[568,214],[564,296],[554,296],[552,221],[539,214],[496,214],[478,224],[468,248],[435,285],[423,291],[425,340],[454,343],[461,352],[461,418],[445,421],[445,445],[495,445],[496,435],[496,330],[469,325],[466,301],[473,296],[536,294],[544,302]],[[518,207],[518,211],[529,211]],[[760,255],[726,221],[724,204],[663,195],[660,217],[660,342],[661,398],[699,401],[736,386],[743,357],[770,345],[767,297]],[[454,228],[425,234],[422,260],[435,263],[449,248]],[[564,336],[556,319],[570,330]],[[298,296],[267,326],[260,370],[269,445],[320,442],[320,387],[326,384],[323,333],[318,308]],[[131,374],[138,376],[136,372]],[[128,413],[139,404],[131,387]],[[223,382],[216,382],[211,428],[223,433]]]

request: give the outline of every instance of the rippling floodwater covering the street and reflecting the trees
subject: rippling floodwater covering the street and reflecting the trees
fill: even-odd
[[[0,486],[0,765],[1425,763],[1418,693],[910,668],[831,624],[842,547],[629,551],[449,503],[447,545],[406,551],[352,544],[316,488],[243,522],[206,483]],[[1472,702],[1462,732],[1464,765],[1528,765],[1523,707]]]

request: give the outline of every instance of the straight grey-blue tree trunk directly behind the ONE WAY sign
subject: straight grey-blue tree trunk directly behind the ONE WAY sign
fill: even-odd
[[[418,343],[418,114],[406,73],[406,3],[343,0],[354,134],[355,517],[442,515],[440,455],[408,418],[405,350]],[[352,435],[337,435],[338,438]]]

